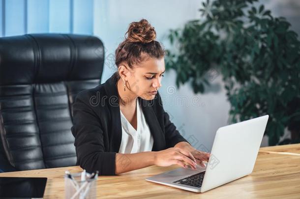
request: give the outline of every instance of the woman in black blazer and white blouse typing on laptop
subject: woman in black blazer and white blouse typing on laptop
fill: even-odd
[[[77,95],[73,105],[77,163],[116,175],[151,165],[204,167],[209,153],[193,148],[164,111],[158,88],[165,51],[147,20],[130,24],[116,50],[118,71]]]

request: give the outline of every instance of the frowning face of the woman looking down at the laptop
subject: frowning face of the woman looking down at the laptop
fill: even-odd
[[[161,87],[161,79],[165,72],[165,60],[162,58],[148,58],[139,66],[129,69],[127,81],[133,94],[145,99],[154,99]],[[127,84],[128,86],[128,84]]]

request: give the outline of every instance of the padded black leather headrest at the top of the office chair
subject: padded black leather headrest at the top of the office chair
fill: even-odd
[[[95,36],[25,34],[0,38],[0,85],[100,79],[104,47]]]

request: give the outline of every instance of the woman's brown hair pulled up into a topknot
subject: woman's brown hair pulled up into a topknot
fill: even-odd
[[[133,68],[133,65],[139,65],[149,57],[164,57],[165,50],[155,38],[156,32],[146,19],[132,22],[125,33],[124,41],[116,49],[117,67],[126,63]],[[119,79],[119,72],[117,71],[114,76]]]

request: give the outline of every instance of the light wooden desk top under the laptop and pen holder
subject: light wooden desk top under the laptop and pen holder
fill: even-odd
[[[276,152],[276,153],[273,153]],[[279,152],[279,153],[278,153]],[[287,152],[291,154],[282,154]],[[293,155],[295,154],[295,155]],[[193,193],[155,184],[145,179],[177,168],[148,167],[119,176],[99,176],[97,196],[100,198],[300,198],[300,144],[263,147],[254,171],[205,193]],[[80,172],[80,167],[0,173],[0,176],[48,177],[44,198],[64,198],[64,171]]]

